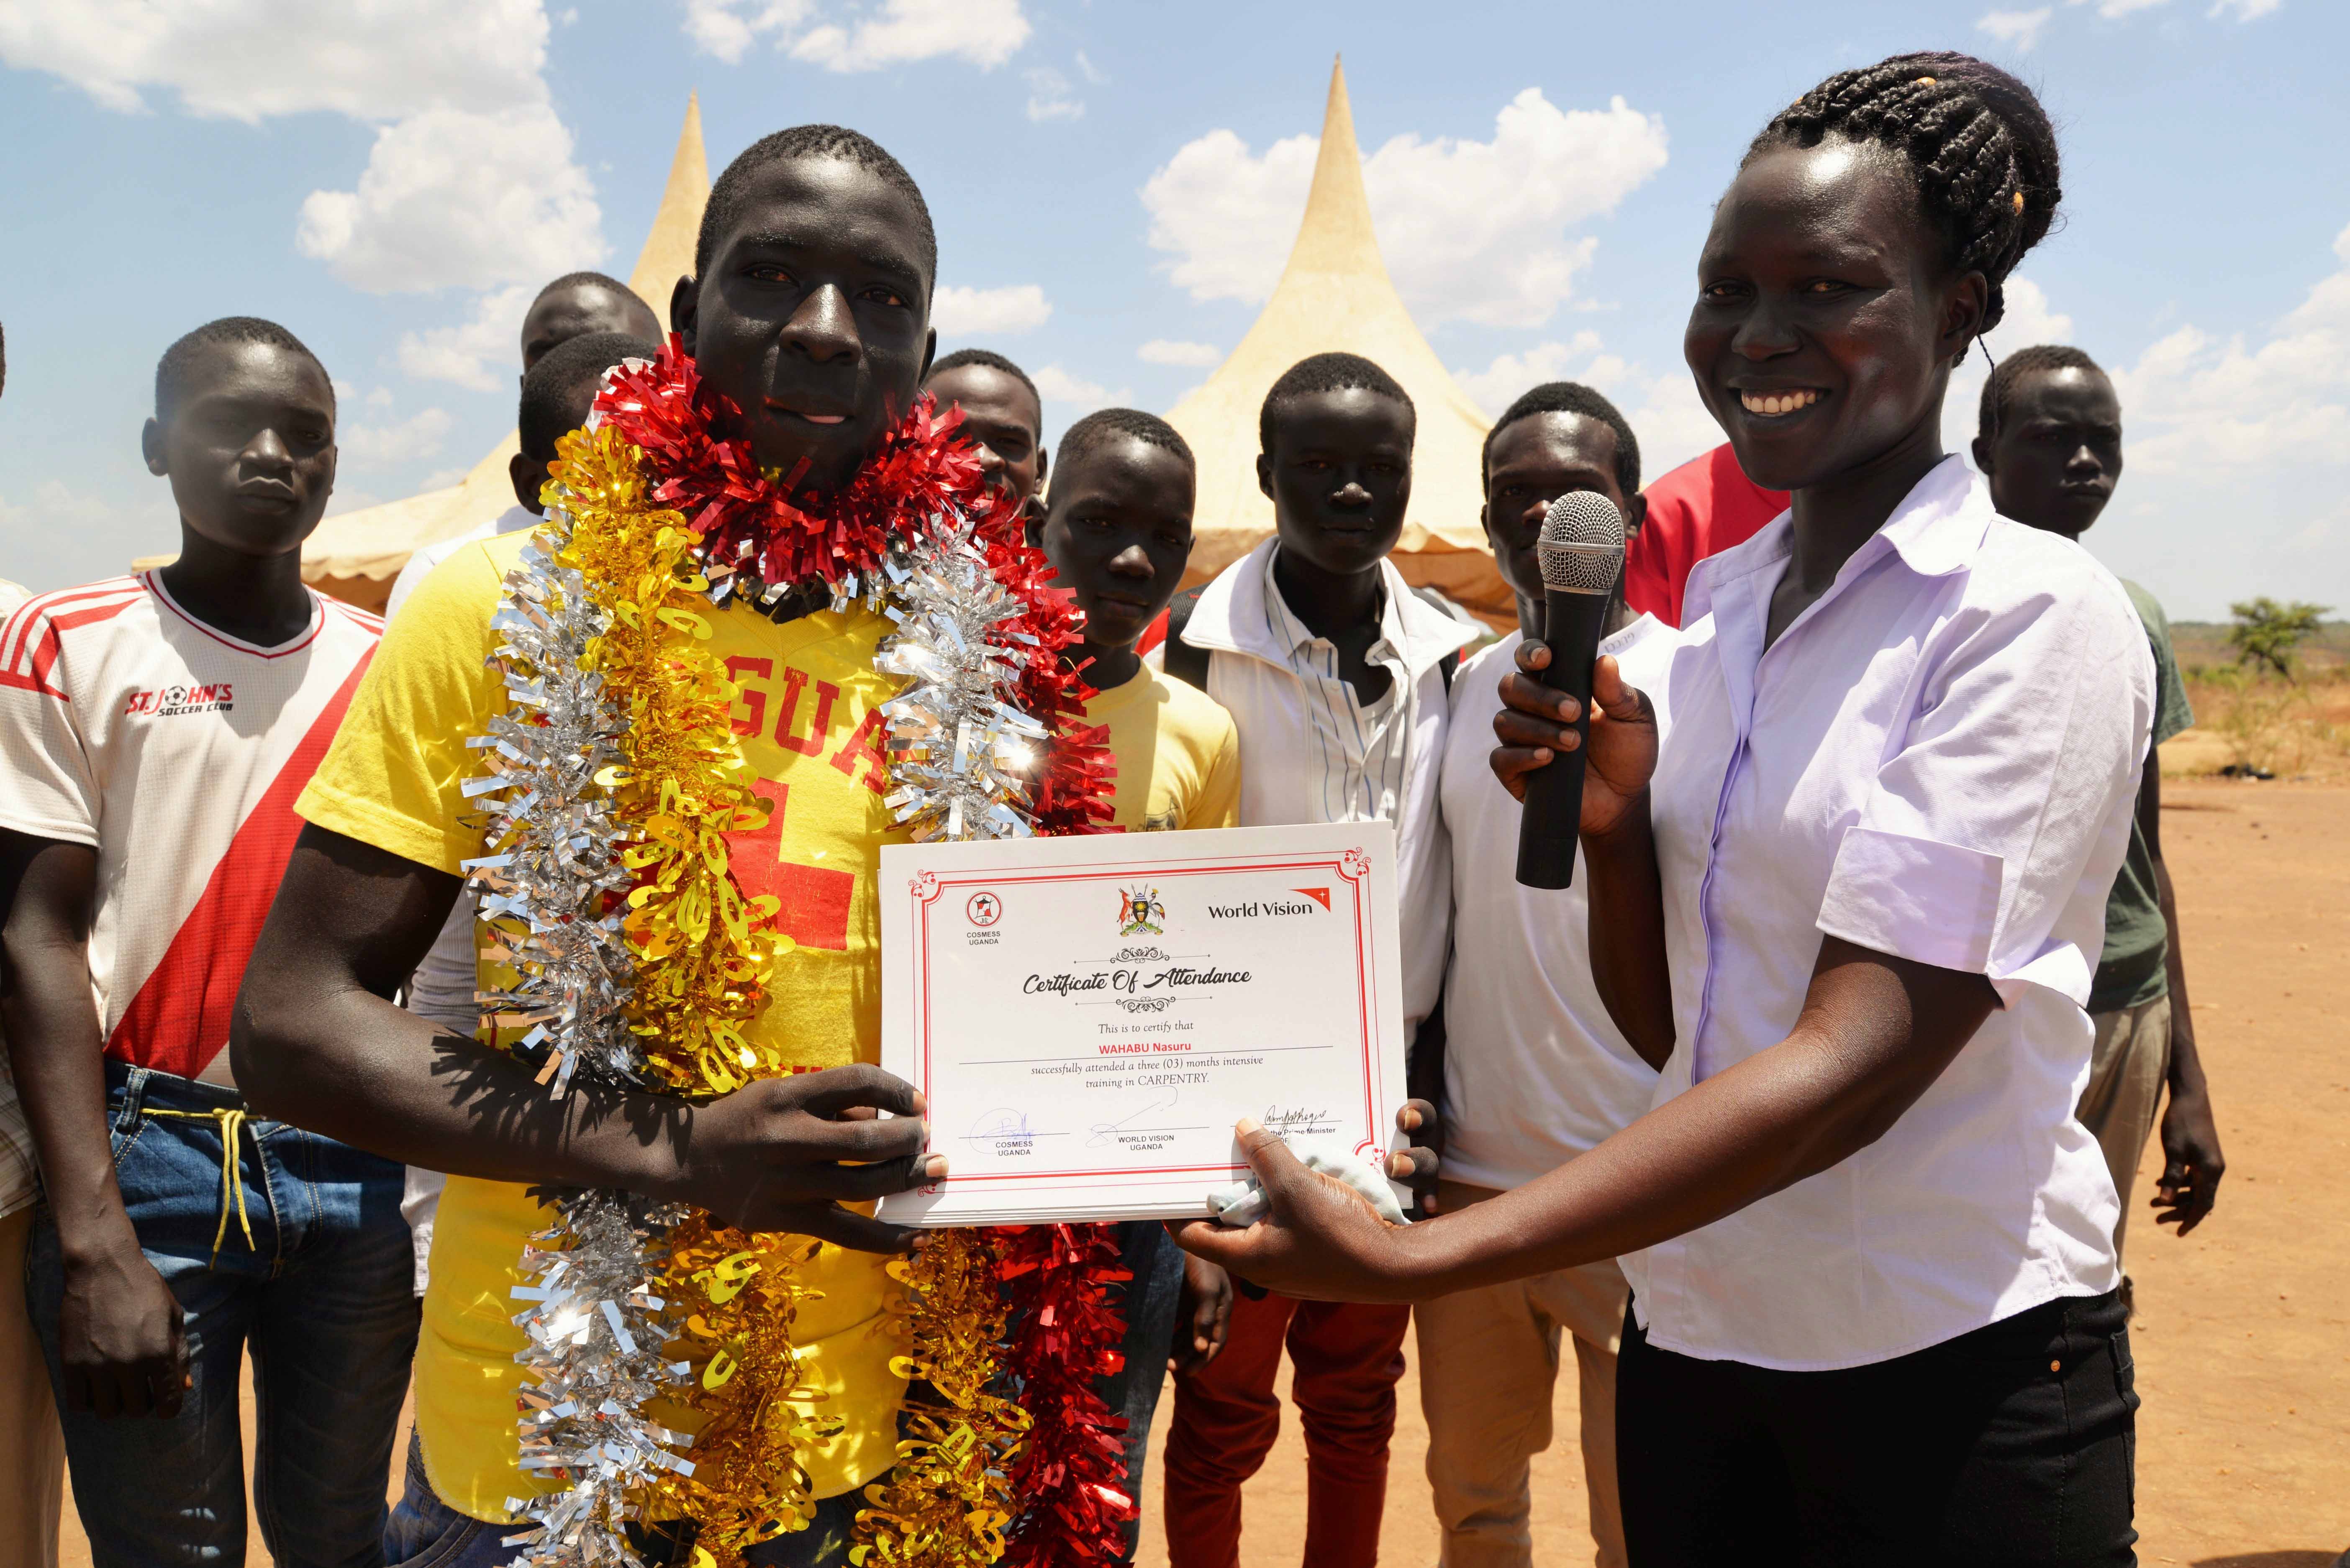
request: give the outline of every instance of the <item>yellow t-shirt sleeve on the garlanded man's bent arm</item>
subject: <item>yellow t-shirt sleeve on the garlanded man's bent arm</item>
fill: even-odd
[[[294,802],[308,823],[449,875],[482,853],[463,783],[477,771],[465,745],[505,703],[489,618],[503,574],[484,545],[465,545],[402,607],[360,679],[343,729]]]

